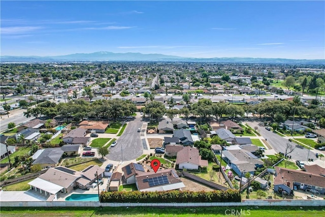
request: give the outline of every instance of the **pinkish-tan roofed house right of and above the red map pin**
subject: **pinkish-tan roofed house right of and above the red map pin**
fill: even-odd
[[[176,166],[179,169],[197,170],[200,167],[207,167],[208,161],[202,160],[199,149],[186,146],[177,152]]]

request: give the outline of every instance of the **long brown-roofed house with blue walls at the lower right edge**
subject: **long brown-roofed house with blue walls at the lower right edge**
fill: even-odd
[[[274,191],[279,189],[288,194],[293,193],[294,187],[303,191],[325,194],[325,176],[301,170],[275,167]]]

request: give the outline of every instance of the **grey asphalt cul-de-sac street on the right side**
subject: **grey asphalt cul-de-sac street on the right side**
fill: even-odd
[[[296,143],[289,142],[288,139],[283,138],[276,133],[273,133],[272,131],[268,131],[263,126],[259,126],[257,122],[249,122],[247,121],[248,125],[254,129],[254,127],[258,127],[258,132],[267,139],[268,143],[273,147],[273,149],[276,152],[282,152],[285,153],[285,147],[286,143],[290,143],[294,146],[297,146],[295,150],[291,153],[289,153],[289,156],[291,156],[291,159],[293,160],[299,160],[299,161],[308,161],[307,159],[314,159],[316,160],[315,153],[307,148],[304,148],[303,146],[299,146]],[[309,156],[308,156],[309,152]]]

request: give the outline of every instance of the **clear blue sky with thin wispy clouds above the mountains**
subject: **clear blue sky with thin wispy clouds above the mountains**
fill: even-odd
[[[1,1],[1,55],[325,59],[324,1]]]

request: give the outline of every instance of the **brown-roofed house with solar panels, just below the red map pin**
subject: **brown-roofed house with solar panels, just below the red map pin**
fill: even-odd
[[[174,168],[145,172],[135,176],[140,192],[171,191],[185,188]]]

